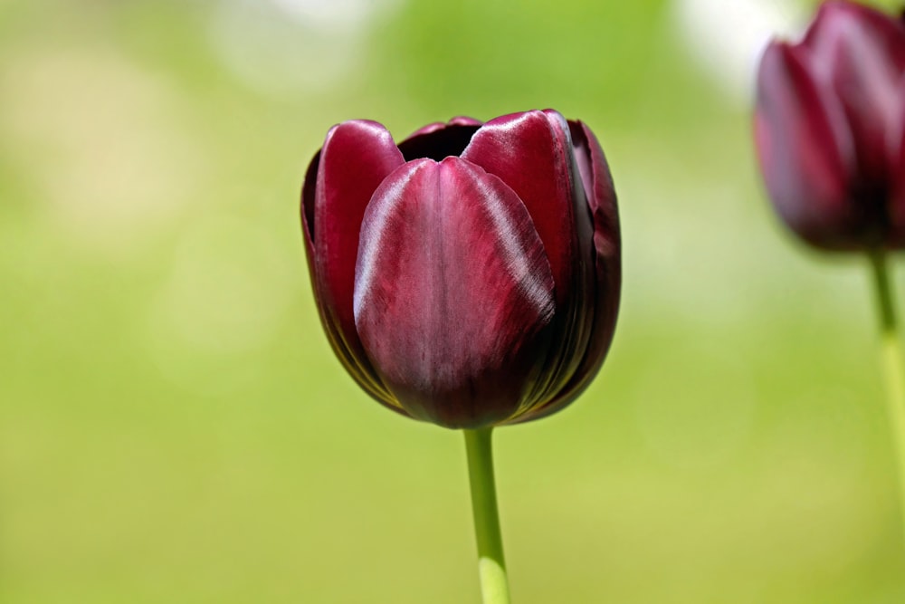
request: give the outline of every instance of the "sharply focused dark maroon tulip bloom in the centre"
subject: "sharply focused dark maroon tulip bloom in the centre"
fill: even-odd
[[[329,130],[301,196],[329,342],[371,397],[477,428],[554,413],[613,339],[619,220],[604,152],[556,111]]]

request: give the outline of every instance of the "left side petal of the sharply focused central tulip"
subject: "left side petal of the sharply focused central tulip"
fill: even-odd
[[[355,331],[352,293],[358,230],[376,187],[403,163],[380,124],[347,121],[330,129],[311,161],[301,215],[321,323],[340,362],[368,394],[398,407],[370,367]]]

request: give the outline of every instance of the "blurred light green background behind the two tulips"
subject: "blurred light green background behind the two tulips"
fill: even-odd
[[[749,137],[807,10],[0,0],[0,601],[477,602],[462,436],[340,369],[300,182],[340,120],[544,107],[608,154],[624,297],[586,395],[497,432],[514,601],[905,600],[865,263]]]

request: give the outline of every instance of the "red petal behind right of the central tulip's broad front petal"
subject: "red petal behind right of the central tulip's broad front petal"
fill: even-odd
[[[528,208],[547,251],[560,309],[572,291],[576,242],[571,150],[557,136],[556,121],[538,110],[496,118],[474,134],[462,158],[500,177]]]

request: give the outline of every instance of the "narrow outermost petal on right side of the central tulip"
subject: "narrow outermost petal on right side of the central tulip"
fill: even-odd
[[[554,398],[530,409],[517,421],[529,421],[557,412],[575,400],[594,379],[613,341],[622,285],[622,244],[613,177],[604,149],[584,123],[570,121],[576,167],[587,192],[587,205],[594,219],[594,275],[592,283],[594,319],[581,364]]]

